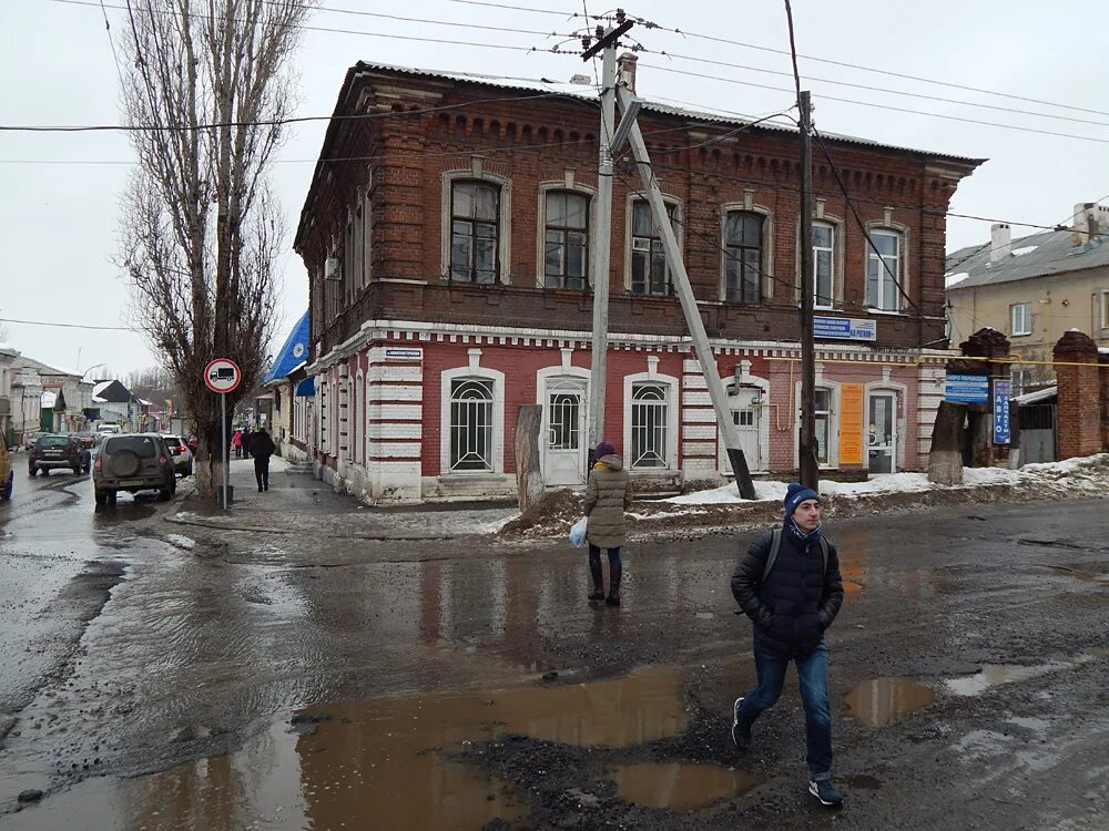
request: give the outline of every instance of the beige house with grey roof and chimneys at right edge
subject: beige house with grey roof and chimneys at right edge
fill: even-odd
[[[1014,357],[1014,394],[1054,383],[1051,350],[1069,330],[1109,346],[1109,207],[1075,206],[1072,229],[1013,239],[994,225],[988,246],[947,257],[952,342],[983,327],[1005,332]]]

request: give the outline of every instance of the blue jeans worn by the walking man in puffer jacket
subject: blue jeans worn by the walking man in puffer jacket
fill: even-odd
[[[743,697],[740,717],[754,721],[763,710],[773,707],[782,695],[785,670],[791,660],[795,661],[801,683],[801,701],[805,708],[808,773],[814,780],[831,779],[832,707],[828,702],[828,649],[824,642],[808,655],[791,658],[759,643],[756,635],[754,654],[759,686]]]

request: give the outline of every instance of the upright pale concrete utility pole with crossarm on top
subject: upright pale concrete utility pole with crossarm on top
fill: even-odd
[[[601,59],[601,132],[598,145],[597,239],[589,270],[593,277],[593,342],[589,370],[589,463],[593,463],[597,445],[604,440],[606,372],[609,353],[609,253],[612,248],[612,134],[615,132],[617,43],[621,34],[634,25],[620,21],[608,30],[597,27],[597,42],[581,55],[588,61],[603,51]]]

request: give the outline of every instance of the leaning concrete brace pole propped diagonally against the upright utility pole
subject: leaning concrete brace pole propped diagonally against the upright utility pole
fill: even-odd
[[[631,143],[632,155],[635,158],[635,166],[639,168],[639,176],[643,183],[643,192],[651,205],[651,213],[654,224],[662,235],[662,248],[667,255],[667,266],[674,280],[674,289],[678,291],[678,299],[682,304],[682,312],[685,315],[685,324],[689,326],[690,336],[693,340],[693,348],[696,350],[698,360],[701,362],[701,371],[704,373],[705,383],[709,387],[709,398],[712,400],[713,409],[716,411],[716,422],[720,432],[724,438],[724,447],[728,450],[728,459],[732,463],[732,472],[735,474],[735,483],[739,486],[740,495],[746,500],[755,497],[755,485],[751,481],[751,471],[747,469],[747,460],[740,449],[740,434],[732,421],[732,411],[728,406],[728,396],[724,394],[724,384],[720,381],[720,371],[716,369],[716,359],[712,355],[712,347],[709,345],[709,335],[704,330],[704,322],[701,320],[701,310],[696,305],[696,297],[693,295],[693,287],[690,285],[689,273],[685,270],[685,263],[682,260],[681,250],[678,247],[678,236],[670,224],[670,216],[667,214],[667,205],[662,199],[662,191],[659,188],[659,181],[654,176],[651,167],[651,157],[647,152],[647,143],[643,141],[643,133],[635,121],[639,112],[639,101],[624,88],[617,90],[620,102],[620,136],[628,136]],[[629,129],[630,126],[630,129]],[[613,147],[613,151],[619,146]]]

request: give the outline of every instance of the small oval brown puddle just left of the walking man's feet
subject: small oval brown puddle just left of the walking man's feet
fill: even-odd
[[[714,765],[621,765],[604,771],[630,804],[692,811],[734,799],[762,782],[743,770]]]

